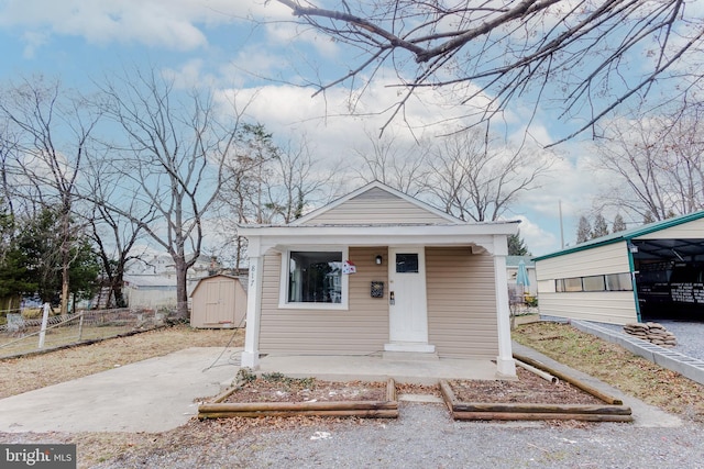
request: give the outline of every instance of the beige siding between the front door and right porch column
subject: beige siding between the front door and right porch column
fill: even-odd
[[[494,259],[466,247],[426,248],[428,342],[440,357],[498,354]]]

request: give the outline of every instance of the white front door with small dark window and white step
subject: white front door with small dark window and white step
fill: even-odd
[[[428,346],[424,247],[388,248],[387,350],[435,351]]]

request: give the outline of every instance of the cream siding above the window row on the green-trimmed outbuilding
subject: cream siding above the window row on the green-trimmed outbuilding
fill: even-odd
[[[536,263],[538,281],[629,271],[626,242],[550,257]]]

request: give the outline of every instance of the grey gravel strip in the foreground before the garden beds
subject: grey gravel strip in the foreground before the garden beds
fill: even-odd
[[[442,404],[403,403],[397,421],[316,422],[125,455],[99,468],[704,468],[704,427],[454,422]]]

